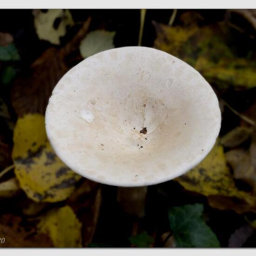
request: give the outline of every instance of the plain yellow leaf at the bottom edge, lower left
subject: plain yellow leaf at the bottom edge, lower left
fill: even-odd
[[[81,247],[81,223],[69,206],[49,211],[38,229],[52,239],[54,247]]]

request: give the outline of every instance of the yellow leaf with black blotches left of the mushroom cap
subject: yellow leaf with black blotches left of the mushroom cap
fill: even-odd
[[[15,175],[27,196],[37,202],[65,200],[81,179],[55,155],[45,131],[44,116],[25,115],[14,128]]]

